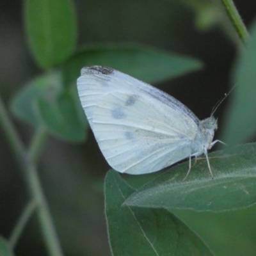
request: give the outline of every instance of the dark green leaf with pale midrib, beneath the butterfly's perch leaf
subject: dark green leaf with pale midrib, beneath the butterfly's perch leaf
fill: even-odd
[[[213,255],[182,221],[164,209],[122,207],[134,192],[115,171],[105,180],[105,207],[112,255]]]

